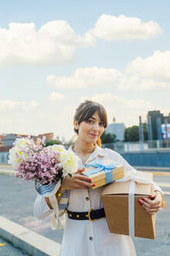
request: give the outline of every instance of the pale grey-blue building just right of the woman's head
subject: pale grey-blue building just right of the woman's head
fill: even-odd
[[[105,131],[106,133],[114,133],[116,135],[116,140],[124,140],[125,125],[124,123],[116,123],[115,117],[113,117],[113,123],[110,123]]]

